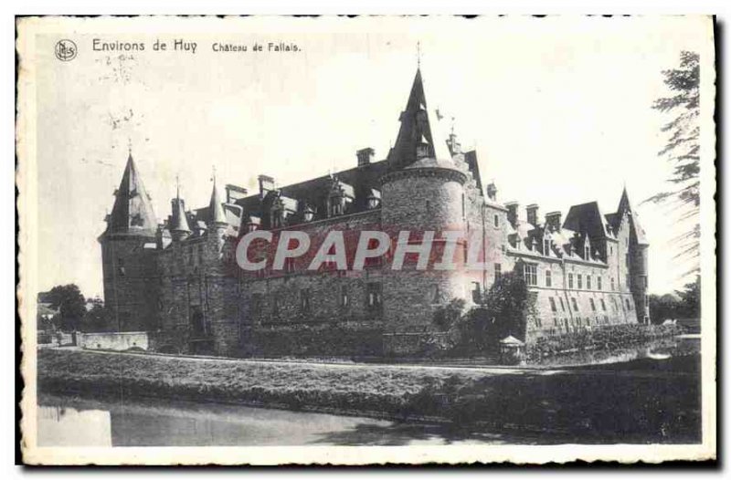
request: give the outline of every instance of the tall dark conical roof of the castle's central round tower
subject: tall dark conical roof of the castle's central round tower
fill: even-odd
[[[429,144],[429,158],[451,162],[448,137],[441,134],[436,112],[429,110],[420,68],[417,68],[406,109],[401,112],[399,121],[401,126],[396,143],[388,154],[391,168],[403,168],[416,162],[420,157],[417,154],[418,145],[423,143]],[[422,139],[426,139],[426,142]]]

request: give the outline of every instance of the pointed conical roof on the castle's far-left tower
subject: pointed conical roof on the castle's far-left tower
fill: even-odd
[[[150,195],[132,159],[132,149],[127,157],[122,182],[114,193],[114,206],[107,221],[105,234],[128,234],[154,237],[157,220],[154,216]]]

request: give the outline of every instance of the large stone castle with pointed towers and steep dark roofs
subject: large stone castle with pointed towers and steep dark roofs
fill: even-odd
[[[494,183],[483,188],[476,151],[440,133],[419,70],[399,121],[385,160],[366,148],[354,168],[280,188],[260,175],[253,194],[229,184],[222,197],[214,180],[207,206],[188,209],[178,192],[160,224],[131,153],[99,238],[104,299],[120,329],[156,332],[161,351],[412,354],[436,329],[436,308],[455,297],[480,303],[514,269],[535,297],[525,341],[649,321],[648,242],[626,190],[615,213],[591,202],[565,219],[541,218],[535,204],[523,214],[517,203],[498,202]],[[310,271],[294,258],[281,270],[238,268],[241,235],[290,229],[314,244],[334,230],[434,231],[442,252],[439,233],[462,231],[479,239],[484,267],[420,270],[407,261],[394,270],[384,256],[361,271]],[[412,254],[416,240],[407,241]],[[463,242],[453,248],[466,260]]]

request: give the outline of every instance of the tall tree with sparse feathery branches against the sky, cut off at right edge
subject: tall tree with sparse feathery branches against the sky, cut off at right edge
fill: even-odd
[[[690,268],[683,277],[693,275],[700,269],[700,224],[698,212],[700,206],[700,64],[695,52],[683,51],[680,54],[680,66],[663,70],[664,83],[670,89],[668,97],[656,99],[652,104],[654,110],[673,116],[665,123],[661,131],[667,136],[667,143],[659,151],[673,165],[673,172],[668,179],[671,186],[661,193],[656,193],[645,200],[651,203],[669,205],[678,214],[678,221],[683,224],[683,232],[673,238],[678,245],[675,258],[689,263]]]

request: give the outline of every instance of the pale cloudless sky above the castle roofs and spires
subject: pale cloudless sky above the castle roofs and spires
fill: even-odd
[[[669,120],[651,109],[668,92],[662,70],[682,50],[713,56],[698,17],[245,18],[120,24],[79,22],[36,39],[38,287],[77,283],[101,296],[104,216],[128,148],[162,222],[175,176],[188,207],[219,183],[257,190],[260,173],[299,182],[385,158],[395,141],[418,54],[429,108],[502,202],[541,214],[598,201],[614,212],[626,186],[650,240],[650,291],[683,286],[673,259],[676,214],[641,201],[666,187],[657,152]],[[187,29],[186,33],[181,33]],[[79,47],[54,57],[66,36]],[[94,51],[143,42],[144,51]],[[168,44],[154,51],[156,39]],[[175,51],[175,39],[196,53]],[[249,51],[215,52],[215,42]],[[298,52],[269,52],[268,43]],[[259,43],[263,51],[253,52]],[[417,49],[417,45],[419,46]],[[711,45],[712,47],[712,45]],[[708,72],[711,73],[711,72]],[[703,72],[702,72],[703,74]]]

